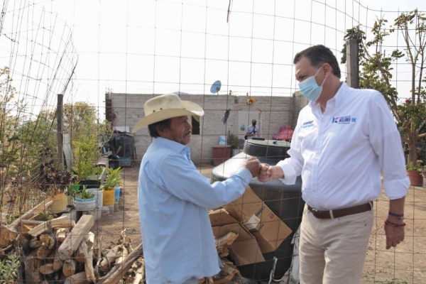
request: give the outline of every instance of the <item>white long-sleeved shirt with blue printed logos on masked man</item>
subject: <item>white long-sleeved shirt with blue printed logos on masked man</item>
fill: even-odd
[[[302,198],[315,209],[350,207],[375,200],[381,192],[404,197],[410,186],[400,133],[386,100],[371,89],[342,83],[322,114],[310,102],[300,111],[290,158],[280,161],[283,182],[302,175]]]

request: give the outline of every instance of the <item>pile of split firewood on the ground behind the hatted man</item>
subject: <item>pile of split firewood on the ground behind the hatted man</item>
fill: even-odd
[[[33,218],[51,204],[45,200],[13,223],[0,228],[0,258],[16,253],[23,268],[18,283],[145,283],[142,244],[133,248],[121,232],[115,244],[102,248],[102,236],[95,245],[92,215],[83,214],[77,222],[63,214],[48,221]],[[223,268],[218,275],[199,283],[241,283],[241,275],[229,256],[229,246],[238,234],[230,232],[216,240]]]

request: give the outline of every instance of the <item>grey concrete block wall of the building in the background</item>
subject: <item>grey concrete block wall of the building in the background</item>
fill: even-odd
[[[153,94],[116,94],[107,93],[106,99],[111,99],[114,126],[133,126],[143,118],[143,104],[155,97]],[[247,104],[250,97],[227,96],[212,94],[181,94],[182,100],[195,102],[204,109],[204,116],[200,118],[200,135],[192,135],[188,146],[191,148],[191,158],[195,163],[212,163],[213,148],[218,145],[219,136],[228,135],[229,131],[244,138],[245,129],[251,125],[251,119],[257,119],[261,137],[271,139],[279,132],[280,126],[295,127],[297,114],[303,102],[300,96],[293,97],[252,97],[254,104]],[[222,117],[226,109],[231,109],[226,124]],[[297,113],[296,113],[297,112]],[[143,128],[135,133],[136,162],[139,163],[152,138],[148,129]]]

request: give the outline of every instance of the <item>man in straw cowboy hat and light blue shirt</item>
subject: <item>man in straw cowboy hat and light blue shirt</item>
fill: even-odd
[[[197,283],[220,271],[207,209],[240,197],[258,175],[260,164],[249,158],[236,174],[211,185],[195,168],[186,146],[192,129],[187,118],[202,116],[204,110],[176,94],[153,97],[143,109],[145,117],[133,132],[148,126],[153,137],[138,180],[146,280],[148,284]]]

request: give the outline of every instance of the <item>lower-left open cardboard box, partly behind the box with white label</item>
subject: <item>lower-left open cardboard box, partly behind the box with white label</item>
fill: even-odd
[[[229,232],[238,234],[238,237],[231,246],[229,253],[237,266],[258,263],[265,261],[256,238],[242,226],[234,217],[224,209],[209,212],[210,222],[212,222],[213,235],[216,239],[225,236]]]

